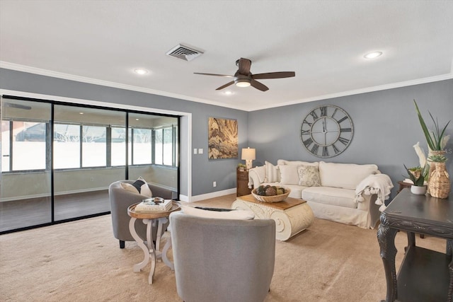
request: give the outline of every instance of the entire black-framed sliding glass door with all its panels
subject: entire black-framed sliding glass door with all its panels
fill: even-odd
[[[107,214],[117,180],[178,198],[178,117],[15,97],[1,109],[0,233]]]

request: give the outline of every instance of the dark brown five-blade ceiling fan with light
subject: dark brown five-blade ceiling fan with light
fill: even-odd
[[[226,83],[223,86],[220,86],[216,90],[221,90],[230,85],[236,84],[238,87],[248,87],[253,86],[260,91],[268,91],[268,86],[265,86],[263,83],[260,83],[256,80],[262,79],[281,79],[281,78],[290,78],[296,76],[294,71],[280,71],[280,72],[268,72],[265,74],[252,74],[250,72],[250,66],[252,62],[249,59],[238,59],[236,60],[236,66],[239,67],[238,71],[234,76],[229,76],[226,74],[205,74],[202,72],[194,72],[194,74],[203,74],[205,76],[225,76],[226,78],[234,78],[233,81]]]

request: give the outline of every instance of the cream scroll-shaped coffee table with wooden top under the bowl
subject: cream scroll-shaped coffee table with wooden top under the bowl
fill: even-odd
[[[282,202],[259,202],[252,194],[237,197],[232,209],[253,211],[256,219],[275,221],[275,238],[288,240],[304,231],[314,221],[314,214],[305,200],[287,197]]]

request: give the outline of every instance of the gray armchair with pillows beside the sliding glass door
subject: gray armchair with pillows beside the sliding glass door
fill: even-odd
[[[125,241],[134,241],[134,238],[132,238],[129,231],[130,216],[127,214],[127,208],[131,204],[142,202],[142,200],[146,198],[143,195],[127,191],[121,186],[121,182],[132,184],[134,181],[135,180],[119,180],[117,182],[113,182],[108,187],[110,212],[112,214],[113,236],[120,240],[120,248],[125,248]],[[162,197],[164,199],[172,199],[172,190],[151,184],[148,184],[148,186],[149,189],[151,189],[153,196]],[[165,230],[167,226],[168,223],[163,226],[163,229]],[[137,219],[137,221],[135,221],[135,229],[141,238],[147,238],[147,226],[142,223],[141,219]],[[153,240],[156,240],[156,232],[157,229],[153,228]]]

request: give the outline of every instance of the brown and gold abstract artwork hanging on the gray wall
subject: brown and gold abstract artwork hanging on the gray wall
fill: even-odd
[[[237,158],[238,157],[238,121],[217,117],[209,117],[208,158]]]

